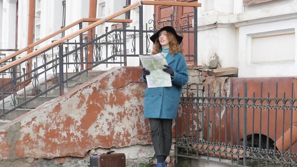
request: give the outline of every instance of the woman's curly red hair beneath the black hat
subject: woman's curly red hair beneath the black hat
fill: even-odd
[[[166,34],[167,34],[167,38],[169,40],[169,52],[170,52],[170,54],[172,56],[174,56],[174,54],[176,52],[183,53],[183,49],[179,47],[175,36],[171,32],[167,32]],[[159,39],[157,38],[154,45],[153,45],[152,54],[158,54],[160,52],[161,47],[162,46],[161,46],[161,44],[159,42]]]

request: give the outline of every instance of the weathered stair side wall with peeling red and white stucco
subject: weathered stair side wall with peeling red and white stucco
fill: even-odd
[[[0,157],[84,157],[92,148],[149,144],[141,73],[113,68],[1,126]]]

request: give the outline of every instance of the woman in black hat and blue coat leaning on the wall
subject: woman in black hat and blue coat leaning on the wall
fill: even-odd
[[[172,87],[146,88],[144,117],[150,119],[153,145],[157,157],[157,167],[167,166],[165,159],[169,155],[172,143],[172,121],[177,117],[182,86],[188,82],[187,64],[179,44],[183,37],[177,35],[173,27],[161,28],[150,38],[153,54],[163,53],[168,65],[163,71],[171,75]],[[150,71],[142,69],[142,79]]]

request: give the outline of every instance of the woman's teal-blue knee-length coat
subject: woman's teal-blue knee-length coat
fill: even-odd
[[[172,87],[146,88],[144,99],[145,118],[176,119],[182,86],[188,82],[187,64],[184,56],[177,52],[166,56],[168,65],[174,70]],[[165,68],[165,67],[164,67]],[[142,76],[143,81],[146,79]]]

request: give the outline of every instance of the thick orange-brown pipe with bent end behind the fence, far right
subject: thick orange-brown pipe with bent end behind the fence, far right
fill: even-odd
[[[297,98],[297,77],[293,78],[293,83],[294,83],[293,98]],[[282,150],[287,151],[290,148],[290,146],[292,146],[297,142],[297,111],[293,110],[292,112],[293,112],[292,129],[289,128],[287,131],[285,131],[283,136],[277,139],[275,143],[278,150],[280,151]],[[290,142],[291,137],[292,137],[292,142]],[[283,147],[282,147],[282,140],[283,140]]]

